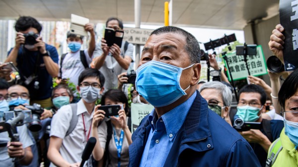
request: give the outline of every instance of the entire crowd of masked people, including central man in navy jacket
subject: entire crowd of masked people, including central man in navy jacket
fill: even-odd
[[[123,23],[111,17],[106,27],[123,30]],[[1,166],[79,167],[94,137],[84,167],[298,167],[298,69],[268,71],[270,85],[248,76],[232,108],[235,93],[215,55],[210,65],[222,81],[199,82],[200,46],[185,30],[154,30],[128,86],[133,45],[96,43],[93,25],[84,29],[88,48],[81,51],[83,36],[68,32],[70,52],[59,56],[35,18],[16,21],[15,46],[0,64]],[[283,31],[276,26],[269,47],[284,63]],[[154,107],[134,133],[131,103]],[[120,107],[117,115],[101,108],[110,105]],[[9,113],[24,116],[13,124]]]

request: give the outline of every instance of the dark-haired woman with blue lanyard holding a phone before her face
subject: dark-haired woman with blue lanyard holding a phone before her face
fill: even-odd
[[[101,98],[101,105],[120,105],[123,109],[117,116],[105,118],[100,125],[101,147],[105,150],[99,167],[127,167],[129,162],[128,147],[132,143],[132,133],[128,126],[128,100],[118,89],[108,90]]]

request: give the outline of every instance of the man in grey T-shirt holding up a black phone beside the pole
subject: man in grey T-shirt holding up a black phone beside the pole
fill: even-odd
[[[106,27],[123,30],[123,23],[118,18],[111,17],[106,21]],[[133,60],[133,51],[133,45],[126,41],[122,41],[121,48],[117,44],[108,47],[104,38],[96,45],[92,66],[99,69],[106,78],[104,84],[106,91],[112,88],[117,89],[117,76],[129,68]]]

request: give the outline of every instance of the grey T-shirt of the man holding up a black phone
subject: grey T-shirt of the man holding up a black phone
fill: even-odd
[[[124,45],[125,41],[122,41],[121,45],[121,56],[130,56],[131,59],[133,59],[133,52],[134,52],[134,46],[133,44],[129,44],[127,47],[126,52],[124,53]],[[96,44],[95,51],[93,53],[94,58],[97,56],[101,56],[103,53],[101,49],[101,42]],[[104,75],[105,83],[104,88],[105,91],[108,91],[109,89],[118,88],[118,75],[122,72],[126,72],[124,68],[120,66],[120,64],[117,62],[117,60],[109,53],[102,65],[102,67],[99,69],[100,72]]]

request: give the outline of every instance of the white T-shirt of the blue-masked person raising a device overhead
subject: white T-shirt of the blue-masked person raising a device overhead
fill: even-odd
[[[84,50],[84,54],[85,54],[87,63],[90,64],[92,61],[92,57],[89,56],[87,49]],[[61,59],[59,59],[59,69],[61,68],[60,61]],[[62,62],[61,77],[70,78],[70,82],[73,82],[74,85],[76,86],[78,82],[78,76],[84,69],[85,67],[80,59],[80,51],[77,51],[75,53],[68,53],[64,57]]]

